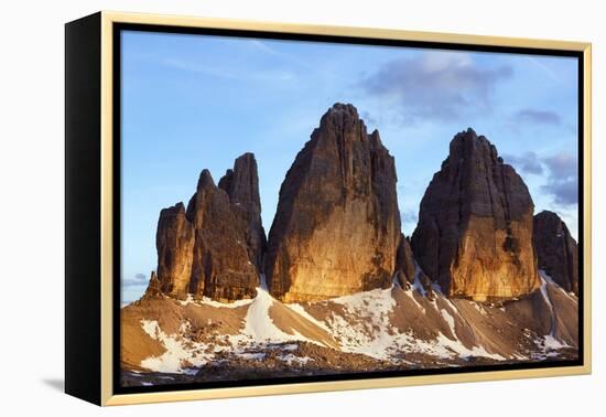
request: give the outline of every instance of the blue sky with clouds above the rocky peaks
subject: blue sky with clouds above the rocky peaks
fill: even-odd
[[[576,60],[184,35],[122,34],[122,299],[155,269],[160,210],[218,182],[244,152],[259,164],[269,232],[296,152],[337,101],[377,128],[398,171],[402,229],[455,133],[485,135],[522,175],[535,212],[577,234]]]

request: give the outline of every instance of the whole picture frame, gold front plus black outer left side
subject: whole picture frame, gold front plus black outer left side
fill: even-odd
[[[377,40],[394,40],[394,41],[414,41],[414,42],[435,42],[440,44],[456,44],[456,45],[481,45],[481,46],[504,46],[518,49],[540,49],[553,51],[573,51],[582,55],[583,73],[582,75],[582,93],[583,93],[583,122],[580,126],[580,132],[583,135],[583,364],[574,366],[558,366],[558,367],[541,367],[526,370],[504,370],[504,371],[487,371],[487,372],[468,372],[457,374],[439,374],[439,375],[415,375],[415,376],[398,376],[398,377],[381,377],[366,379],[346,379],[346,381],[329,381],[329,382],[305,382],[281,385],[255,385],[255,386],[236,386],[207,389],[183,389],[183,391],[166,391],[166,392],[150,392],[138,394],[116,394],[115,393],[115,308],[113,308],[113,277],[115,277],[115,200],[113,188],[116,181],[116,161],[115,158],[115,117],[116,108],[113,106],[113,72],[115,72],[115,26],[117,24],[143,24],[154,26],[173,26],[173,28],[205,28],[220,30],[238,30],[253,32],[275,32],[289,33],[292,35],[329,35],[329,36],[346,36],[346,38],[364,38]],[[592,126],[592,46],[591,43],[583,42],[566,42],[552,40],[531,40],[517,38],[499,38],[499,36],[480,36],[468,34],[450,34],[434,32],[415,32],[404,30],[388,30],[388,29],[370,29],[370,28],[349,28],[349,26],[325,26],[310,24],[286,24],[278,22],[256,22],[231,19],[208,19],[208,18],[192,18],[177,15],[160,15],[160,14],[142,14],[142,13],[122,13],[102,11],[91,17],[84,18],[79,21],[68,23],[66,26],[66,141],[67,141],[67,158],[66,158],[66,181],[67,181],[67,206],[66,215],[66,245],[68,250],[66,254],[66,392],[77,397],[90,400],[98,405],[126,405],[141,403],[158,403],[158,402],[177,402],[191,399],[208,399],[208,398],[228,398],[241,396],[261,396],[275,394],[294,394],[294,393],[312,393],[327,391],[344,391],[344,389],[361,389],[361,388],[383,388],[398,387],[410,385],[429,385],[444,383],[467,383],[495,379],[513,379],[513,378],[531,378],[545,376],[564,376],[564,375],[582,375],[589,374],[592,371],[592,291],[591,291],[591,270],[592,270],[592,149],[591,149],[591,126]],[[94,57],[91,60],[91,56]],[[90,79],[74,81],[75,65],[83,65],[83,60],[87,60],[93,68],[94,74],[89,74]],[[94,70],[98,68],[98,70]],[[86,70],[86,67],[84,68]],[[84,71],[83,70],[83,71]],[[84,76],[84,75],[83,75]],[[80,76],[80,78],[83,77]],[[95,83],[98,77],[98,85]],[[79,83],[79,84],[78,84]],[[85,93],[83,93],[83,90]],[[88,92],[88,93],[86,93]],[[82,94],[88,94],[87,98],[82,99]],[[72,100],[72,104],[71,104]],[[78,105],[76,105],[76,101]],[[93,106],[98,103],[97,107],[89,108],[85,104],[91,103]],[[87,111],[88,115],[83,115]],[[97,113],[98,111],[98,113]],[[87,122],[83,124],[83,118]],[[79,121],[78,121],[79,120]],[[83,136],[95,135],[95,140],[84,138]],[[77,141],[80,141],[78,145]],[[82,143],[89,141],[91,145]],[[72,147],[72,148],[71,148]],[[71,196],[75,197],[85,185],[78,185],[76,179],[77,169],[86,167],[77,162],[72,162],[75,159],[83,158],[83,149],[78,147],[87,147],[84,151],[91,152],[98,159],[97,164],[89,167],[91,170],[98,169],[98,188],[94,191],[96,197],[91,197],[90,204],[98,211],[94,213],[78,212],[77,209],[69,209],[72,204]],[[71,151],[73,149],[73,151]],[[73,152],[73,153],[72,153]],[[80,171],[86,172],[86,171]],[[83,209],[83,211],[86,207]],[[78,244],[77,233],[71,227],[71,221],[76,224],[78,221],[88,218],[87,216],[95,215],[98,221],[94,226],[98,226],[98,246],[83,246]],[[98,249],[98,252],[97,252]],[[88,250],[84,254],[84,250]],[[85,256],[86,255],[86,256]],[[76,256],[85,256],[85,258],[95,258],[98,268],[90,267],[87,272],[86,265],[73,265]],[[86,275],[83,275],[86,274]],[[93,284],[77,282],[83,277],[88,279],[93,276]],[[79,301],[78,301],[79,300]],[[91,301],[93,300],[93,301]],[[93,321],[91,329],[94,332],[93,339],[88,339],[86,343],[98,345],[98,349],[86,354],[82,352],[90,350],[79,339],[86,338],[88,333],[82,330],[84,320]],[[98,323],[96,322],[98,320]],[[93,334],[93,333],[90,333]],[[80,370],[84,365],[88,365],[88,370]],[[90,372],[91,368],[97,368]],[[84,376],[86,372],[90,379],[98,379],[94,383],[88,383],[83,387]]]

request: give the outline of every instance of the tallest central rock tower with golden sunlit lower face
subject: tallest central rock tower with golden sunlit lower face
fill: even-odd
[[[400,236],[393,158],[336,104],[296,156],[269,234],[271,293],[311,301],[391,284]]]

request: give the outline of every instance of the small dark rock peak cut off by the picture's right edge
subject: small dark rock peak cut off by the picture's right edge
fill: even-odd
[[[560,287],[578,296],[578,248],[558,214],[543,211],[534,216],[532,242],[539,268]]]

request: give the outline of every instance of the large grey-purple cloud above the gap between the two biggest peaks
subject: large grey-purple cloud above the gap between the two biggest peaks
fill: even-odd
[[[508,65],[483,67],[466,53],[432,51],[388,62],[360,86],[409,120],[451,120],[489,111],[495,87],[512,72]]]

